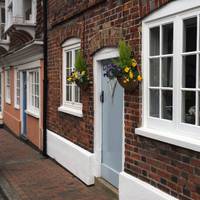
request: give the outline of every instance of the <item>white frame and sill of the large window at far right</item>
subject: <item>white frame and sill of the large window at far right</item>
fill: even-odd
[[[192,4],[192,2],[194,4]],[[170,3],[145,19],[142,24],[142,72],[143,72],[143,117],[141,128],[136,129],[136,134],[174,144],[184,148],[200,151],[200,126],[186,124],[181,119],[181,85],[182,85],[182,55],[183,55],[183,20],[198,17],[198,30],[200,24],[200,2],[175,1]],[[175,5],[176,4],[176,5]],[[188,7],[187,7],[188,5]],[[193,10],[191,5],[194,6]],[[177,8],[182,9],[178,10]],[[168,10],[169,9],[169,10]],[[168,15],[172,13],[172,15]],[[149,33],[150,28],[164,24],[174,24],[174,52],[173,52],[173,120],[157,119],[149,116]],[[199,31],[197,32],[199,35]],[[200,36],[199,36],[200,37]],[[199,37],[197,40],[199,44]],[[200,55],[200,52],[198,52]],[[197,63],[198,66],[199,63]],[[178,67],[177,67],[178,66]],[[199,73],[198,71],[196,73]],[[200,90],[199,90],[200,91]],[[196,104],[198,106],[198,104]]]

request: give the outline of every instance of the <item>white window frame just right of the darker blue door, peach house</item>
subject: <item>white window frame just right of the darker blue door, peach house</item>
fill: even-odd
[[[31,73],[38,73],[39,76],[39,107],[37,108],[35,105],[33,105],[32,102],[32,83],[31,83]],[[26,113],[29,115],[32,115],[35,118],[39,118],[40,117],[40,69],[36,68],[36,69],[32,69],[32,70],[28,70],[27,71],[27,110]]]

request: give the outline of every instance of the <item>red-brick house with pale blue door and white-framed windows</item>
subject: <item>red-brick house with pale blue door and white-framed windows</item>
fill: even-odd
[[[198,0],[49,0],[48,155],[87,185],[104,178],[122,200],[200,199],[199,14]],[[110,103],[102,66],[122,38],[143,83],[117,85]],[[87,90],[66,82],[80,48]]]

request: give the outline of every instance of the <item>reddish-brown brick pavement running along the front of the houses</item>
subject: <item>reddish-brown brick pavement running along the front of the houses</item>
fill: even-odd
[[[100,183],[87,187],[4,129],[0,129],[0,184],[15,200],[117,199]]]

